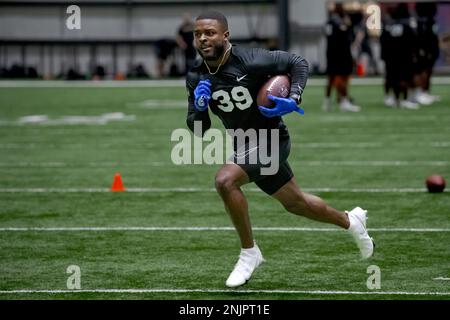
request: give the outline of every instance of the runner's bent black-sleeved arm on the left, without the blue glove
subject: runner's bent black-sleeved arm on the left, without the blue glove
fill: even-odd
[[[198,84],[198,77],[195,74],[188,73],[186,76],[186,89],[188,92],[188,112],[186,117],[186,123],[189,129],[194,131],[194,122],[201,121],[202,132],[201,136],[211,127],[211,119],[209,118],[208,109],[199,111],[195,107],[195,94],[194,91]]]

